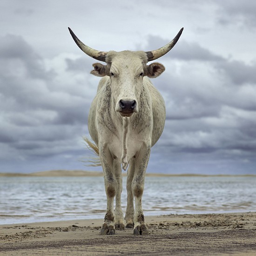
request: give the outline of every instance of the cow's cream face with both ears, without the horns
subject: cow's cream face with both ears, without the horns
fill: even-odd
[[[146,65],[144,52],[108,52],[107,65],[94,63],[91,74],[108,75],[115,102],[115,111],[121,116],[131,116],[139,111],[139,99],[144,76],[157,77],[165,70],[160,63]]]

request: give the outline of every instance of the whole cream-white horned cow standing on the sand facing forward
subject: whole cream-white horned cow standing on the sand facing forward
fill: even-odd
[[[107,210],[101,235],[116,229],[133,228],[135,235],[148,234],[141,198],[151,147],[160,138],[165,123],[165,103],[149,78],[165,67],[153,62],[168,53],[179,40],[183,28],[167,45],[154,51],[102,52],[85,45],[68,27],[78,47],[94,63],[91,74],[102,77],[92,101],[88,130],[98,152],[104,174]],[[127,209],[121,209],[122,168],[127,173]],[[115,199],[115,210],[114,210]],[[134,207],[135,201],[135,207]],[[124,221],[125,220],[125,221]]]

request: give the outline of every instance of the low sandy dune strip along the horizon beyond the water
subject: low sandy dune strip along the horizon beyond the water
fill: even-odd
[[[123,176],[127,175],[127,172],[122,173]],[[82,171],[82,170],[52,170],[42,171],[34,173],[0,173],[0,177],[100,177],[103,176],[102,172],[96,171]],[[241,176],[241,177],[256,177],[256,175],[203,175],[203,174],[162,174],[162,173],[147,173],[148,177],[229,177],[229,176]]]

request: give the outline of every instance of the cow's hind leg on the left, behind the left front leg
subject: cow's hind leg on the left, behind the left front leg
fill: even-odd
[[[117,181],[117,190],[115,195],[115,229],[124,229],[123,211],[121,208],[121,193],[122,193],[122,169],[121,162],[114,160],[114,172]]]

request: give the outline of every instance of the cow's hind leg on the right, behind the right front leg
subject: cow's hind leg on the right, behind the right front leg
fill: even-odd
[[[126,228],[133,229],[134,227],[134,197],[132,192],[132,181],[135,172],[135,159],[131,159],[129,162],[129,168],[127,170],[127,207],[125,213],[125,220],[126,220]]]

